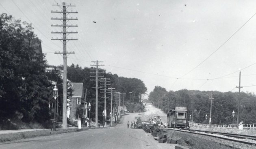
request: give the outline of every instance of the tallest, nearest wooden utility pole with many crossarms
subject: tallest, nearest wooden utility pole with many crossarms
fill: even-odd
[[[62,7],[61,11],[51,11],[51,13],[62,13],[63,17],[62,18],[52,18],[52,20],[60,20],[62,21],[61,25],[51,25],[53,27],[62,27],[63,31],[52,31],[52,34],[62,34],[63,38],[58,39],[58,38],[52,38],[52,40],[61,40],[63,41],[63,52],[55,52],[55,54],[63,54],[63,106],[62,106],[62,128],[63,129],[67,129],[67,54],[74,54],[74,52],[67,52],[67,42],[69,40],[78,40],[78,39],[73,39],[73,38],[67,38],[68,34],[77,34],[78,32],[73,32],[73,31],[67,31],[67,27],[78,27],[78,25],[67,25],[67,21],[69,20],[78,20],[71,18],[67,18],[67,15],[69,15],[69,13],[78,13],[73,12],[73,11],[67,11],[66,7],[71,7],[71,6],[75,6],[75,5],[66,5],[65,2],[63,2],[62,4],[56,4],[53,6],[58,6],[58,7]]]

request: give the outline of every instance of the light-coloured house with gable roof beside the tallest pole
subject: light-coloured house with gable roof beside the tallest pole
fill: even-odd
[[[84,98],[84,86],[83,83],[72,82],[71,84],[73,92],[72,97],[69,101],[69,106],[67,108],[67,117],[70,120],[73,120],[74,118],[76,118],[76,109],[78,109],[79,107],[83,107],[82,99]]]

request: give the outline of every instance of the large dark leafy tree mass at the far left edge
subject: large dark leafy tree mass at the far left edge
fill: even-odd
[[[41,41],[31,24],[0,15],[0,119],[43,123],[49,119],[50,82]]]

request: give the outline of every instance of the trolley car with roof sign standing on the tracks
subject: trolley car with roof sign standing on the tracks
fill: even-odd
[[[175,107],[169,110],[167,113],[167,127],[186,129],[189,126],[187,115],[187,107]]]

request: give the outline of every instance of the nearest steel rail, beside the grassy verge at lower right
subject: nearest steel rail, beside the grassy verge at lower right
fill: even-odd
[[[180,131],[180,132],[187,132],[187,133],[192,133],[192,134],[199,134],[199,135],[203,135],[203,136],[212,136],[212,137],[219,138],[219,139],[223,139],[223,140],[228,140],[228,141],[233,141],[233,142],[237,142],[237,143],[243,143],[243,144],[246,144],[246,145],[256,146],[255,143],[246,142],[246,141],[241,141],[241,140],[235,140],[235,139],[230,139],[230,138],[225,138],[225,137],[221,137],[221,136],[214,136],[214,135],[211,135],[211,134],[202,134],[202,133],[199,133],[199,132],[184,131],[184,130],[172,129],[172,128],[164,128],[164,129],[167,129],[167,130],[174,130],[174,131]]]

